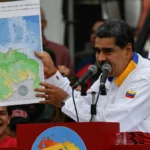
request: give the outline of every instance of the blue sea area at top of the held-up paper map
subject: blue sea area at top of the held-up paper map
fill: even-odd
[[[0,18],[0,48],[20,44],[41,52],[39,15]]]

